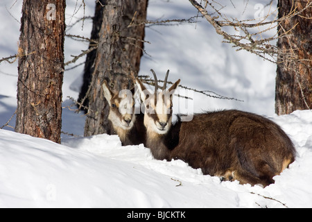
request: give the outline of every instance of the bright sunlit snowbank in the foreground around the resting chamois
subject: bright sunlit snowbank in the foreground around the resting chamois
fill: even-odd
[[[154,160],[116,135],[60,145],[0,130],[0,207],[312,207],[312,112],[271,119],[291,136],[297,158],[264,189]]]

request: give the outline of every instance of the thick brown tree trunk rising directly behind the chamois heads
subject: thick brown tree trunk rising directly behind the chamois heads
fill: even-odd
[[[105,1],[94,72],[90,83],[85,136],[111,133],[109,107],[103,96],[103,80],[116,92],[133,86],[130,72],[139,71],[144,40],[147,0]]]

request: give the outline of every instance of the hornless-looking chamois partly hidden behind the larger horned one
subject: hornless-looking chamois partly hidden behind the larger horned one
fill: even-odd
[[[135,114],[135,88],[114,93],[106,80],[102,87],[105,99],[110,105],[108,119],[113,132],[119,135],[121,144],[123,146],[145,144],[144,114],[142,112]]]

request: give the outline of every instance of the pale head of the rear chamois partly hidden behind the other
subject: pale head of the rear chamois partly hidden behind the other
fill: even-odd
[[[106,80],[102,85],[105,99],[110,105],[108,119],[112,121],[114,128],[130,130],[135,122],[135,100],[133,95],[135,88],[123,89],[120,92],[112,92]]]

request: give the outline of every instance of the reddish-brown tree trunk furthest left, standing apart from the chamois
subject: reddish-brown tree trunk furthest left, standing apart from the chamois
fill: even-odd
[[[65,0],[24,0],[15,130],[60,143]]]

